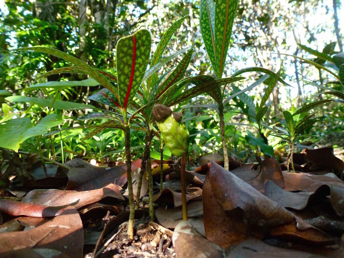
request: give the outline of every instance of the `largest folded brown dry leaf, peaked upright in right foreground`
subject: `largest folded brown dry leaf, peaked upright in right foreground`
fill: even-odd
[[[216,163],[212,163],[203,186],[203,213],[207,238],[222,247],[249,236],[261,238],[264,229],[288,241],[333,243],[333,238]]]

